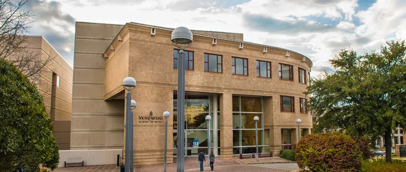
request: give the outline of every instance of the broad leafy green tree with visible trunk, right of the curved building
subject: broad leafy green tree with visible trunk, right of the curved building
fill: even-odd
[[[406,127],[405,41],[387,42],[380,51],[357,55],[342,50],[330,60],[334,73],[312,79],[312,114],[315,131],[339,131],[351,136],[385,138],[388,155],[391,135],[398,125]],[[391,162],[386,156],[386,162]]]

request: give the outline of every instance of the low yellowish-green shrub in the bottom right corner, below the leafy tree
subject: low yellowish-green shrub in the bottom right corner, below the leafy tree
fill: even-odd
[[[362,172],[406,172],[406,162],[392,160],[392,163],[386,163],[384,159],[363,161]]]

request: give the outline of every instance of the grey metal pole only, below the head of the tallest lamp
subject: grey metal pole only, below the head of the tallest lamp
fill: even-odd
[[[185,171],[185,59],[184,47],[178,56],[178,149],[176,156],[177,172]]]

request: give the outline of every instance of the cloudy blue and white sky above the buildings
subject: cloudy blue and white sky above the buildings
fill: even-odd
[[[406,0],[31,0],[42,35],[73,66],[75,22],[144,23],[244,33],[244,40],[299,52],[312,76],[341,49],[359,53],[406,39]]]

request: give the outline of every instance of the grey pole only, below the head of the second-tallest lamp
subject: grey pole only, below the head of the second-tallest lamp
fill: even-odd
[[[131,94],[129,91],[127,92],[126,98],[126,106],[125,106],[125,172],[129,172],[130,170],[130,138],[129,138],[129,114],[131,111]]]

